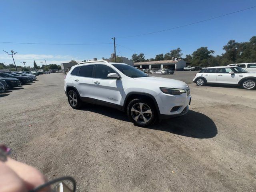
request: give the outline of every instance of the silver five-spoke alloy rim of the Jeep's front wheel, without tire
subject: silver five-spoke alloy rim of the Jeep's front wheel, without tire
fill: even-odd
[[[152,111],[147,104],[140,102],[132,106],[131,115],[136,122],[146,124],[152,118]]]

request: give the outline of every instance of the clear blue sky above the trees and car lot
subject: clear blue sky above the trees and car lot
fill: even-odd
[[[180,47],[184,56],[201,46],[216,54],[228,40],[248,41],[256,35],[256,8],[166,32],[121,38],[173,28],[256,6],[255,0],[2,0],[0,42],[112,43],[116,54],[146,58]],[[125,48],[124,48],[125,47]],[[18,52],[16,64],[32,66],[46,59],[60,64],[109,58],[113,44],[31,45],[0,43],[0,62],[13,63],[2,50]],[[21,64],[20,64],[21,65]]]

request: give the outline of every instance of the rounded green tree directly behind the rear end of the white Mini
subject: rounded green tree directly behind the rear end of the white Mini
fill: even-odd
[[[200,47],[196,51],[192,53],[192,65],[193,66],[207,66],[208,65],[208,58],[213,57],[212,54],[214,53],[213,50],[208,50],[207,47]]]

